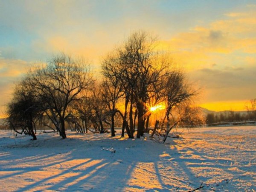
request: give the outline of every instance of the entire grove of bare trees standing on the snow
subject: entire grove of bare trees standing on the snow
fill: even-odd
[[[81,133],[105,133],[110,127],[115,136],[119,119],[122,136],[126,132],[134,138],[137,130],[140,138],[149,131],[150,107],[159,103],[166,106],[162,123],[166,122],[166,136],[177,124],[204,123],[196,115],[198,110],[189,107],[198,91],[171,64],[168,54],[156,51],[156,39],[143,31],[131,34],[102,59],[100,81],[93,79],[82,59],[55,56],[17,84],[8,104],[9,124],[33,139],[35,124],[51,127],[49,121],[62,138],[66,138],[65,124]]]

